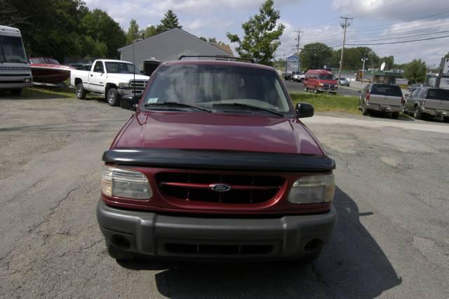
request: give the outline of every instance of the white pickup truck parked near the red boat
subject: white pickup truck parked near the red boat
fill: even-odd
[[[87,93],[99,93],[111,106],[120,105],[122,95],[142,95],[148,79],[131,62],[121,60],[95,60],[90,71],[72,69],[70,74],[76,98],[84,100]]]

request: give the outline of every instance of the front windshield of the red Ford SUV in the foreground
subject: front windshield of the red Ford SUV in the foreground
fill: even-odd
[[[145,93],[142,107],[161,102],[201,107],[242,104],[276,112],[290,110],[275,72],[222,65],[161,67]]]

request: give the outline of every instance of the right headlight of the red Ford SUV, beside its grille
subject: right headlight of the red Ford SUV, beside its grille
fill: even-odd
[[[290,204],[319,204],[332,201],[335,181],[332,173],[307,175],[296,180],[288,194]]]

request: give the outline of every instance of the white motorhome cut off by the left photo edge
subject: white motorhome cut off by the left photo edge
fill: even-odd
[[[32,74],[20,30],[0,25],[0,90],[20,95],[32,86]]]

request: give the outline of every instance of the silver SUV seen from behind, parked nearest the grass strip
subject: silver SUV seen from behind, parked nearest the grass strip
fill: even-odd
[[[401,112],[404,98],[401,88],[392,84],[368,84],[361,91],[358,99],[358,109],[363,115],[368,115],[372,111],[384,112],[397,119]]]

